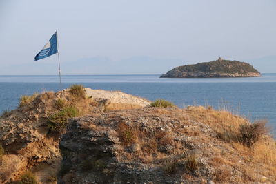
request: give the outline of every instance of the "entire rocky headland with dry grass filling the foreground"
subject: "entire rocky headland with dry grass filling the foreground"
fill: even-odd
[[[264,125],[77,85],[23,96],[0,117],[0,183],[275,183]]]

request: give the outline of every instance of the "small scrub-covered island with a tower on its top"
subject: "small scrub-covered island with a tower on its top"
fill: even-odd
[[[161,75],[161,78],[210,78],[210,77],[255,77],[261,76],[252,65],[219,57],[210,62],[183,65]]]

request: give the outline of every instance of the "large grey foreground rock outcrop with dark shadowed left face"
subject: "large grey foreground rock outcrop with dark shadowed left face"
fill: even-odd
[[[203,119],[248,122],[216,113],[203,107],[143,108],[71,119],[59,143],[59,183],[250,183],[253,176],[245,168],[261,180],[263,170]]]

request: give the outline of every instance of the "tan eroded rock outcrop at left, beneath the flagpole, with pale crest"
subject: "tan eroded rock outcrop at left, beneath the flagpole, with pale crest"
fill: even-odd
[[[51,132],[49,116],[62,110],[57,99],[65,106],[76,106],[81,114],[100,114],[107,109],[143,108],[150,101],[123,92],[85,89],[86,99],[76,99],[69,90],[35,94],[33,101],[0,116],[0,145],[6,150],[0,159],[0,183],[16,181],[32,169],[41,183],[51,183],[59,171],[61,154],[59,140],[66,132]]]

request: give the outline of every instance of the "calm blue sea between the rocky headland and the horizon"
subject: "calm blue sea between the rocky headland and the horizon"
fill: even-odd
[[[258,78],[160,79],[159,75],[62,76],[63,88],[81,83],[86,88],[121,90],[146,99],[167,99],[186,105],[226,104],[254,121],[268,119],[276,132],[276,74]],[[0,76],[0,112],[14,109],[23,94],[59,90],[58,76]]]

